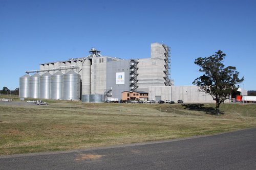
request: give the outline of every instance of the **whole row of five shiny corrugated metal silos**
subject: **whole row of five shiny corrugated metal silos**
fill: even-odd
[[[80,100],[81,76],[71,70],[51,75],[24,75],[19,78],[19,97],[54,100]]]

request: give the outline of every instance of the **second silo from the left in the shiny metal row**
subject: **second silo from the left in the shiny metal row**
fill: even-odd
[[[29,79],[29,98],[39,98],[40,75],[34,74]]]

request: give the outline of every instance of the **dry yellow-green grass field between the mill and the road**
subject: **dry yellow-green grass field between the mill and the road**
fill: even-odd
[[[0,155],[215,134],[256,126],[255,104],[0,105]],[[25,102],[24,102],[25,103]]]

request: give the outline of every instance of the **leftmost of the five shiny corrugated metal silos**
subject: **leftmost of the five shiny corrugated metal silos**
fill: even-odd
[[[30,79],[30,75],[24,75],[19,78],[19,97],[20,98],[29,97],[29,79]]]

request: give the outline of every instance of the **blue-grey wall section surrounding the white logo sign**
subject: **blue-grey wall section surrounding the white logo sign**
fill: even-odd
[[[120,100],[122,91],[129,90],[130,60],[113,61],[106,63],[106,89],[112,88],[112,98]],[[124,84],[116,83],[116,73],[124,72]]]

